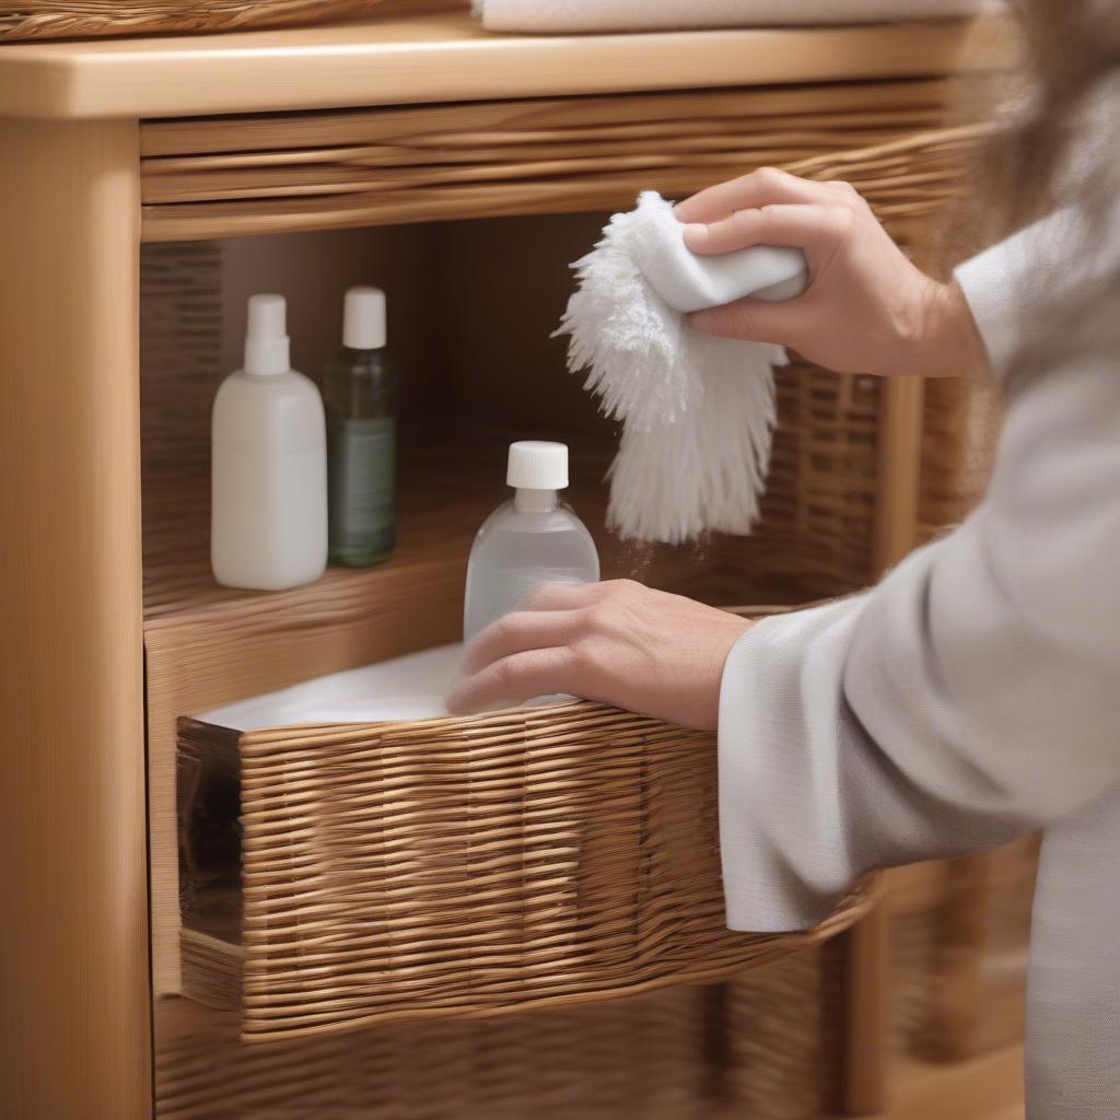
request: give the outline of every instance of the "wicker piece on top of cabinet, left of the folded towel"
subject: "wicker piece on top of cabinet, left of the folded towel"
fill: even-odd
[[[0,41],[314,24],[368,11],[380,0],[0,0]]]

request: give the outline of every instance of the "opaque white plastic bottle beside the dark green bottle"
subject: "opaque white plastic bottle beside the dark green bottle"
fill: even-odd
[[[249,300],[245,363],[214,398],[211,563],[226,587],[276,591],[327,563],[323,400],[289,365],[282,296]]]

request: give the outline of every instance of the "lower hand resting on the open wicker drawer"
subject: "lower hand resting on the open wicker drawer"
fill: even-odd
[[[568,692],[712,730],[731,646],[746,618],[631,580],[550,584],[467,646],[457,713]]]

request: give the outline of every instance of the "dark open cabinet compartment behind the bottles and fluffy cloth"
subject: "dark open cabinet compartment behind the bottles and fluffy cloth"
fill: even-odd
[[[828,508],[827,493],[795,514],[786,495],[772,493],[750,539],[638,548],[605,532],[604,475],[617,429],[597,414],[581,377],[567,372],[564,340],[550,337],[571,290],[568,262],[596,240],[604,220],[485,218],[146,246],[141,408],[149,631],[206,613],[232,619],[269,610],[270,604],[376,596],[382,585],[399,594],[405,572],[445,564],[458,572],[482,517],[505,496],[505,448],[517,438],[570,445],[568,496],[596,534],[610,577],[634,576],[727,603],[796,600],[843,590],[849,577],[858,581],[867,568],[870,489],[866,502],[841,511],[855,519],[848,532],[834,531],[837,511]],[[220,588],[208,567],[209,409],[217,384],[241,362],[244,301],[261,290],[288,297],[292,363],[318,380],[337,345],[343,291],[358,282],[377,283],[389,296],[389,345],[401,388],[398,553],[379,568],[332,569],[319,582],[280,596]],[[837,399],[836,383],[831,376],[818,382],[805,367],[780,375],[783,424],[774,468],[812,466],[814,455],[834,454],[824,439],[814,445],[794,428],[812,419],[828,427],[829,413],[841,409],[852,429],[844,433],[846,452],[866,460],[870,487],[875,385],[844,381]],[[842,485],[853,488],[850,479]],[[814,517],[822,540],[832,538],[832,553],[821,554],[819,570],[805,568],[811,558],[776,563],[775,538],[811,533]],[[414,647],[404,635],[401,642],[394,652]],[[284,683],[291,681],[261,676],[252,687]],[[212,701],[199,696],[198,703]]]

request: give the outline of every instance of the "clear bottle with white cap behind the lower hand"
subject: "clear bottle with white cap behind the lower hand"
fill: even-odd
[[[506,483],[513,498],[486,519],[470,549],[463,622],[468,642],[543,584],[599,578],[591,534],[558,495],[568,486],[567,446],[511,444]]]

